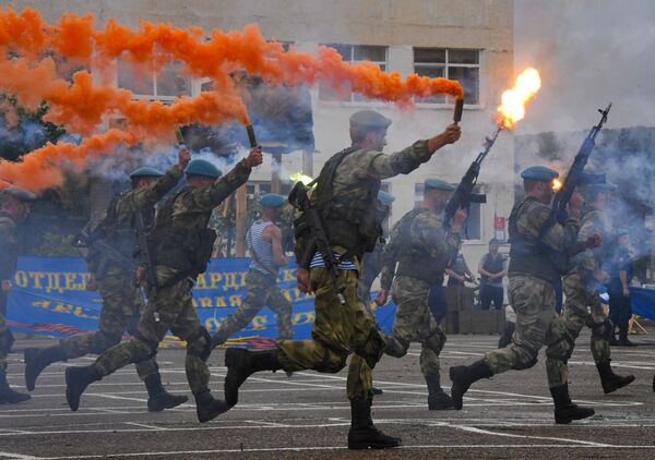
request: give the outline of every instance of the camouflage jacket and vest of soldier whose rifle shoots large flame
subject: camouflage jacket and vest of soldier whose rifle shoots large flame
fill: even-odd
[[[401,219],[391,231],[391,240],[384,251],[382,289],[391,288],[396,263],[397,275],[409,276],[429,285],[442,283],[445,266],[460,246],[460,233],[446,233],[439,215],[429,209],[416,214],[408,226],[408,234],[403,234],[404,227]]]

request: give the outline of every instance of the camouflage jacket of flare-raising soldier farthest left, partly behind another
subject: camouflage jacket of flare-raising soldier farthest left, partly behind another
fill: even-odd
[[[136,213],[143,213],[144,216],[152,218],[157,202],[177,185],[182,173],[180,168],[171,167],[148,186],[118,195],[109,204],[105,216],[94,229],[94,234],[99,234],[98,238],[105,240],[109,246],[126,258],[132,259],[136,250],[134,216]],[[87,266],[88,271],[95,274],[98,279],[108,275],[133,276],[127,273],[128,267],[108,261],[102,251],[93,246],[93,243],[88,251]]]

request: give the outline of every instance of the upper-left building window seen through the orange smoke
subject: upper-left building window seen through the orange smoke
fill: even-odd
[[[166,64],[158,72],[147,71],[126,59],[119,59],[118,86],[135,96],[151,99],[174,100],[191,95],[191,77],[181,72],[181,63]]]

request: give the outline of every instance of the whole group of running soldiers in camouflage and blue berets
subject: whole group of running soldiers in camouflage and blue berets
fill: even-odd
[[[310,340],[293,339],[291,305],[276,286],[279,268],[287,264],[281,229],[275,223],[286,197],[277,194],[261,197],[261,219],[247,234],[251,263],[243,302],[213,336],[201,325],[193,307],[192,288],[212,256],[216,239],[216,233],[207,228],[212,210],[246,183],[252,168],[262,162],[262,149],[253,148],[225,175],[211,162],[191,160],[190,154],[180,149],[178,164],[165,173],[151,168],[132,172],[132,189],[116,196],[103,220],[90,231],[88,285],[99,290],[103,300],[98,330],[61,339],[53,347],[26,349],[27,389],[34,390],[39,374],[49,364],[95,353],[98,358],[93,364],[67,367],[66,396],[73,411],[88,385],[130,363],[135,364],[146,387],[148,411],[179,405],[187,397],[166,391],[155,360],[159,342],[170,331],[186,342],[186,373],[198,419],[207,422],[238,403],[239,388],[253,373],[336,373],[350,356],[346,384],[352,413],[348,448],[389,448],[400,446],[401,439],[380,432],[371,419],[373,395],[380,392],[373,388],[372,371],[383,354],[402,358],[412,342],[420,342],[428,409],[458,410],[475,382],[534,366],[539,350],[546,346],[556,423],[593,415],[593,409],[571,401],[568,388],[568,360],[583,327],[592,331],[591,348],[604,392],[634,379],[616,374],[611,367],[609,340],[614,328],[598,294],[599,285],[607,278],[603,268],[608,256],[605,242],[611,239],[604,209],[614,186],[590,186],[584,198],[575,193],[565,222],[556,222],[544,231],[553,195],[552,180],[558,172],[544,166],[522,172],[525,197],[515,204],[509,220],[508,292],[516,313],[513,340],[507,348],[491,351],[467,366],[451,367],[449,395],[441,387],[439,362],[446,341],[439,325],[443,312],[439,313],[434,305],[445,304],[441,287],[446,268],[461,247],[467,213],[457,210],[446,228],[441,211],[453,186],[440,179],[428,179],[421,206],[395,223],[384,244],[381,237],[393,196],[381,192],[380,186],[382,180],[410,173],[437,150],[457,142],[461,129],[453,123],[433,137],[384,155],[390,124],[391,120],[376,111],[354,113],[352,146],[330,158],[314,181],[309,199],[321,217],[329,252],[321,250],[319,239],[324,235],[317,234],[303,215],[297,213],[298,288],[314,296],[315,319]],[[169,193],[182,175],[184,186]],[[29,202],[35,197],[17,187],[5,189],[0,196],[0,245],[2,254],[7,254],[0,264],[0,402],[13,403],[29,396],[7,384],[5,358],[13,338],[4,322],[4,307],[17,257],[16,225],[27,217]],[[491,262],[484,265],[487,268],[483,267],[480,274],[488,278],[501,274],[502,278],[505,267],[496,261],[497,247],[490,253]],[[555,263],[552,253],[567,254],[565,271]],[[378,276],[381,289],[374,302],[382,305],[391,295],[396,305],[390,335],[380,330],[370,310],[370,290]],[[567,302],[559,316],[553,287],[562,277]],[[624,286],[617,289],[621,288]],[[496,294],[490,292],[489,302],[492,295]],[[245,328],[264,306],[277,315],[276,347],[228,348],[225,396],[214,398],[206,364],[212,350]],[[132,339],[121,342],[126,331]]]

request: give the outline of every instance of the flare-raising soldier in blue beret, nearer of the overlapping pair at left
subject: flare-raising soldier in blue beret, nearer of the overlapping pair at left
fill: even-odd
[[[148,235],[150,263],[156,280],[148,280],[148,304],[134,338],[110,348],[90,366],[67,368],[67,399],[72,410],[78,410],[80,397],[91,383],[130,363],[153,358],[168,330],[187,342],[187,379],[195,397],[198,419],[206,422],[227,410],[224,401],[210,394],[206,360],[212,338],[200,323],[191,288],[196,276],[206,269],[213,252],[216,233],[207,229],[212,210],[241,186],[251,168],[261,162],[261,147],[257,147],[221,180],[221,171],[211,162],[196,159],[189,164],[187,186],[164,203]],[[138,278],[145,271],[142,265]]]

